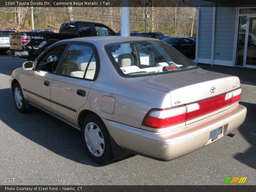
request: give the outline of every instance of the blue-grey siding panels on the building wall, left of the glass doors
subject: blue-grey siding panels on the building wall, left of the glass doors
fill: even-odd
[[[198,59],[209,64],[212,51],[212,17],[212,7],[200,8]],[[223,60],[232,65],[235,30],[236,7],[216,7],[214,64],[221,64]]]

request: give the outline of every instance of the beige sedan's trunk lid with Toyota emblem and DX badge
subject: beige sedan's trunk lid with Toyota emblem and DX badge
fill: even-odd
[[[226,93],[240,87],[239,78],[236,76],[206,71],[201,68],[162,75],[126,78],[126,80],[141,86],[169,92],[172,107],[199,103],[201,105],[200,110],[204,111],[201,111],[202,113],[198,113],[198,111],[195,111],[194,114],[190,113],[197,120],[200,117],[196,113],[207,117],[209,114],[213,115],[213,111],[220,112],[230,108],[231,102],[226,102]]]

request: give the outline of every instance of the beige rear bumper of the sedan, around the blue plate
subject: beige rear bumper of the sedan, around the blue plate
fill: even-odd
[[[247,109],[238,104],[214,116],[167,132],[149,132],[103,119],[110,136],[127,152],[171,160],[202,148],[238,128],[245,119]],[[218,138],[209,139],[210,132],[222,127]]]

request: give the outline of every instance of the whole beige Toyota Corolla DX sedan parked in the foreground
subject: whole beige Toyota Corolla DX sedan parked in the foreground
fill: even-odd
[[[107,164],[128,153],[170,160],[212,143],[245,119],[239,78],[203,70],[163,41],[59,41],[12,72],[16,107],[32,106],[82,131]]]

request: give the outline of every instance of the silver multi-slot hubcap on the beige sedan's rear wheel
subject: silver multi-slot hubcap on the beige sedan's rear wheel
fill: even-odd
[[[93,122],[88,123],[85,126],[84,136],[86,145],[92,155],[102,156],[105,149],[105,141],[99,126]]]

